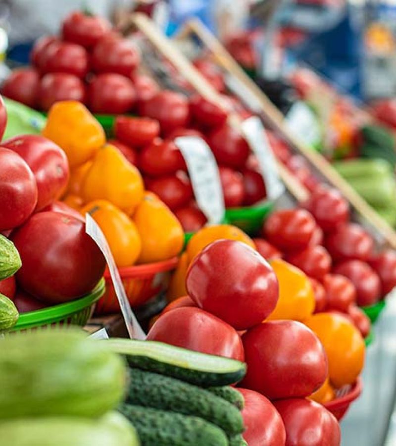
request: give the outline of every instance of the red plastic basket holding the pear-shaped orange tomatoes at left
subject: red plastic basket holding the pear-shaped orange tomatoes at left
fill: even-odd
[[[171,272],[176,268],[178,257],[163,262],[119,268],[122,283],[132,307],[143,305],[148,300],[166,291]],[[108,270],[104,272],[106,291],[95,308],[96,315],[119,313],[120,306]]]

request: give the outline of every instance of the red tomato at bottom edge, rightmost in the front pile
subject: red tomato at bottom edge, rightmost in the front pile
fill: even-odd
[[[340,425],[321,404],[302,398],[275,401],[286,429],[285,446],[340,446]]]

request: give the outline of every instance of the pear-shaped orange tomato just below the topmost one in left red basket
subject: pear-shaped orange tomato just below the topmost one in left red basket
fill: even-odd
[[[107,200],[130,215],[142,201],[143,194],[139,170],[111,144],[102,147],[85,175],[82,186],[84,200]]]

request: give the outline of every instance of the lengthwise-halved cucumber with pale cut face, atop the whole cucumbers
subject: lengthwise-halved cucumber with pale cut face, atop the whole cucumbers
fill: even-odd
[[[113,351],[125,355],[132,367],[177,378],[200,387],[227,386],[240,381],[246,364],[156,341],[112,338]]]

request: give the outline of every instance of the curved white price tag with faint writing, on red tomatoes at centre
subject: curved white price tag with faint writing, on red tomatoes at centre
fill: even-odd
[[[175,144],[186,161],[199,208],[209,224],[221,223],[225,213],[224,197],[212,151],[199,136],[181,136],[175,139]]]

